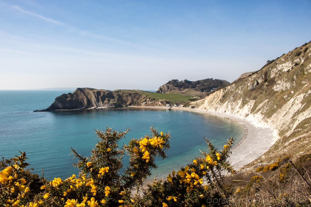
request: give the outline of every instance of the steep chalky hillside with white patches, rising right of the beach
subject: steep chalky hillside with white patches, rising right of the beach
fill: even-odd
[[[244,74],[225,88],[192,106],[246,118],[276,130],[277,141],[264,155],[248,164],[271,162],[283,155],[311,151],[311,42]]]

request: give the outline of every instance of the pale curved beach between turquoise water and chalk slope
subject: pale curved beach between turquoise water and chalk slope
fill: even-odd
[[[153,109],[169,109],[167,106],[130,106],[131,108],[153,108]],[[130,108],[129,107],[129,108]],[[241,119],[234,115],[225,113],[219,113],[215,111],[190,109],[183,107],[172,107],[171,110],[185,110],[191,112],[208,113],[224,117],[243,124],[246,128],[246,134],[241,142],[235,144],[230,155],[230,161],[234,166],[234,169],[240,169],[245,164],[257,159],[260,155],[265,153],[277,139],[276,131],[272,128],[263,128],[255,126],[254,123],[249,122],[246,119]]]

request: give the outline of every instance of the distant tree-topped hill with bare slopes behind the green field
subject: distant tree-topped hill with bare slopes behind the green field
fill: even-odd
[[[197,81],[189,80],[170,80],[164,85],[160,86],[157,93],[182,93],[192,96],[205,97],[211,92],[218,90],[224,86],[229,85],[230,83],[226,80],[220,79],[203,79]]]

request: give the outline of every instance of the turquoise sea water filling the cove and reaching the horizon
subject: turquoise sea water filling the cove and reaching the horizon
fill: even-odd
[[[97,143],[94,129],[113,127],[116,131],[130,128],[126,139],[140,138],[150,133],[150,127],[170,132],[168,158],[158,160],[153,173],[165,178],[167,173],[192,162],[206,150],[203,137],[222,147],[230,137],[236,143],[245,128],[222,117],[179,110],[118,109],[78,112],[33,112],[45,109],[62,93],[72,91],[0,91],[0,156],[10,158],[25,151],[29,167],[44,178],[67,178],[78,173],[72,163],[70,147],[82,156],[90,155]],[[70,156],[69,156],[70,155]],[[126,165],[127,160],[123,160]]]

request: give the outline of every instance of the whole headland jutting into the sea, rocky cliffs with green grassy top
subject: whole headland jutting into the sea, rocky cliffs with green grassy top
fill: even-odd
[[[141,90],[102,90],[77,88],[73,93],[62,94],[44,110],[92,110],[112,109],[126,106],[166,106],[166,104],[186,105],[194,97],[185,94],[161,94]]]

